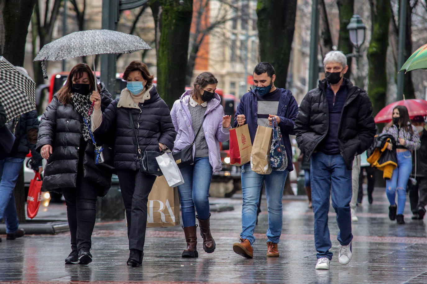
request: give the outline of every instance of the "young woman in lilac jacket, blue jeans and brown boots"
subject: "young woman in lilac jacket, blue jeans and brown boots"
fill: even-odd
[[[222,169],[219,142],[230,138],[231,123],[231,116],[224,115],[221,99],[215,93],[217,83],[218,80],[211,72],[203,72],[194,81],[194,89],[185,92],[176,100],[170,112],[177,132],[174,151],[180,151],[193,143],[200,128],[193,145],[194,163],[181,168],[184,184],[178,186],[187,241],[187,248],[182,252],[182,257],[199,256],[196,250],[196,218],[199,220],[203,249],[208,253],[215,250],[209,222],[209,186],[212,173]]]

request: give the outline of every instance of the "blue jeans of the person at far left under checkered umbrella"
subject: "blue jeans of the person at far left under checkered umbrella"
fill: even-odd
[[[13,189],[23,167],[23,161],[23,158],[0,160],[0,220],[4,217],[8,234],[16,232],[19,226]]]

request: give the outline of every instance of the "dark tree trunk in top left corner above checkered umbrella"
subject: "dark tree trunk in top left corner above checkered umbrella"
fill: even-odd
[[[0,54],[15,66],[24,63],[26,36],[34,5],[35,0],[0,1]]]

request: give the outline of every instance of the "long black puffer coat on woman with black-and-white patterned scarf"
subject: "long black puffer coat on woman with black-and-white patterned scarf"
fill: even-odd
[[[111,95],[101,83],[101,109],[111,102]],[[83,176],[100,185],[98,195],[104,196],[111,186],[111,172],[95,164],[94,145],[91,141],[85,144],[83,161],[79,161],[79,148],[82,140],[83,118],[73,104],[64,105],[57,95],[46,108],[38,131],[37,150],[49,144],[53,153],[47,161],[42,190],[61,192],[63,187],[75,187],[77,167],[83,162]],[[102,144],[95,137],[97,144]]]

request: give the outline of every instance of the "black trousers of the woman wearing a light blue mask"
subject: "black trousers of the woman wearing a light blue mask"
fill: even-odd
[[[129,249],[144,250],[148,195],[156,177],[128,169],[117,169],[126,209]]]

